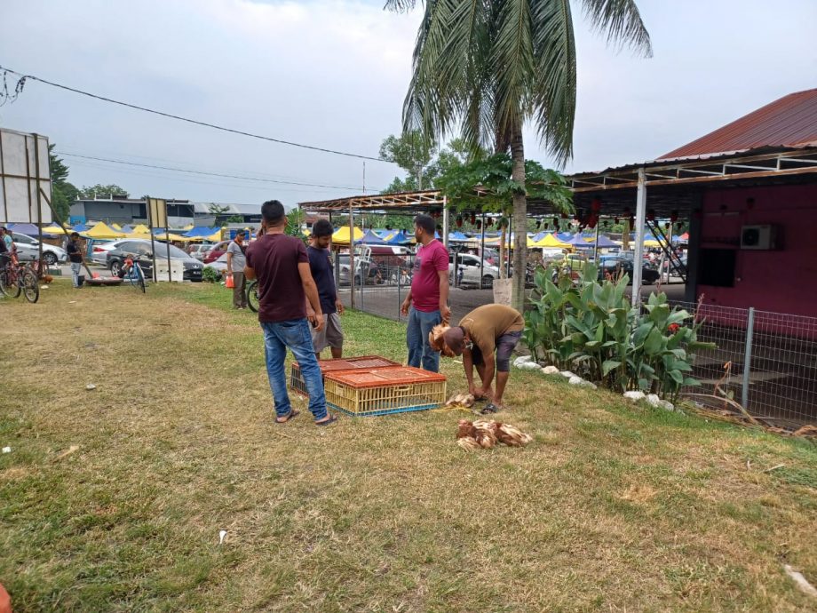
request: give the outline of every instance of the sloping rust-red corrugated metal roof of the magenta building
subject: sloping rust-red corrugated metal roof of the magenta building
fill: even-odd
[[[790,93],[659,159],[746,151],[758,147],[817,146],[817,89]]]

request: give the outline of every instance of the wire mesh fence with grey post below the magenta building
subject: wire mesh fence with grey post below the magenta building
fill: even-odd
[[[817,423],[817,318],[674,304],[702,322],[700,340],[717,346],[696,354],[693,376],[703,387],[685,392],[714,393],[719,386],[754,417],[783,424]],[[718,405],[714,399],[711,403]]]

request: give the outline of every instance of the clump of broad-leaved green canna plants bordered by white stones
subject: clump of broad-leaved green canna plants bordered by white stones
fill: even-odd
[[[599,282],[588,264],[574,282],[555,268],[536,271],[534,306],[525,315],[524,338],[536,359],[615,391],[641,389],[675,400],[682,386],[700,383],[688,376],[700,343],[701,323],[664,293],[653,293],[642,313],[624,296],[629,277]],[[554,283],[552,278],[556,279]]]

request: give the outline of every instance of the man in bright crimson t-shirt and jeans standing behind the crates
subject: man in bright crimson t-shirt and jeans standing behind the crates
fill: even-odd
[[[424,370],[440,370],[440,354],[428,342],[428,333],[440,322],[448,322],[448,250],[434,238],[434,220],[428,215],[414,219],[417,252],[411,289],[401,305],[408,315],[406,345],[408,365]]]

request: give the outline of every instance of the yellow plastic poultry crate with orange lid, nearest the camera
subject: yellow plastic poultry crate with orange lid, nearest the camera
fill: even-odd
[[[353,416],[428,410],[446,401],[446,378],[410,366],[329,372],[323,382],[328,407]]]

